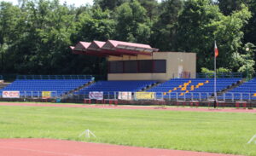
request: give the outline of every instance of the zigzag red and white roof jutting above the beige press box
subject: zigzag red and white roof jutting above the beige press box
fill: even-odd
[[[70,46],[73,54],[96,55],[107,57],[108,55],[152,55],[158,49],[151,48],[148,44],[127,43],[108,40],[107,42],[93,41],[91,43],[79,42],[75,47]]]

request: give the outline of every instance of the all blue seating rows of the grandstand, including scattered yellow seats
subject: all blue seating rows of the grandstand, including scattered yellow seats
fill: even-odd
[[[232,84],[240,81],[240,78],[218,78],[216,90],[221,91],[229,88]],[[18,79],[12,84],[5,87],[3,90],[20,90],[20,91],[56,91],[61,95],[69,90],[78,88],[81,85],[87,84],[90,79]],[[131,91],[137,92],[156,84],[156,81],[99,81],[90,84],[78,92],[76,95],[86,95],[90,91],[103,91],[110,95],[118,91]],[[228,93],[256,93],[256,78],[242,84]],[[2,90],[2,91],[3,91]],[[212,95],[214,92],[214,79],[213,78],[173,78],[165,83],[152,87],[148,92],[156,92],[158,97],[178,97],[178,98],[205,98]],[[198,94],[197,94],[198,93]],[[201,94],[199,94],[201,93]],[[243,98],[251,98],[251,95],[242,95]],[[220,95],[218,98],[241,98],[240,94],[237,95]],[[252,97],[254,98],[254,97]]]

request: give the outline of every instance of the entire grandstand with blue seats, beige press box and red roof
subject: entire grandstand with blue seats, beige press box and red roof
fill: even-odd
[[[70,47],[75,55],[106,57],[108,80],[86,75],[19,75],[3,86],[3,98],[114,99],[129,101],[212,101],[214,78],[196,73],[196,55],[160,52],[148,44],[108,40]],[[3,79],[3,77],[0,77]],[[242,73],[218,73],[218,101],[256,100],[256,78]],[[121,95],[121,96],[120,96]],[[129,97],[128,97],[129,96]]]

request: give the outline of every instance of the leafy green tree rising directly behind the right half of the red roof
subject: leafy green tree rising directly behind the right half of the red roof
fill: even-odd
[[[146,9],[137,2],[123,3],[115,12],[115,38],[121,41],[148,43],[151,35],[151,23]]]

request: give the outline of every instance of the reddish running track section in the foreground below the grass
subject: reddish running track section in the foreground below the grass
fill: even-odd
[[[231,156],[53,139],[0,139],[1,156]]]

